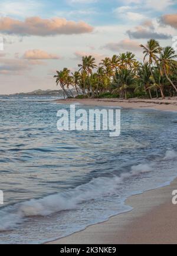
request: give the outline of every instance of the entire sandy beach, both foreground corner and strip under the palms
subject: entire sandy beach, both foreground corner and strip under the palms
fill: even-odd
[[[165,100],[67,99],[57,102],[177,111],[175,97]],[[129,212],[48,244],[176,244],[177,205],[172,203],[172,191],[176,189],[177,179],[158,189],[131,196],[125,202],[132,206]]]

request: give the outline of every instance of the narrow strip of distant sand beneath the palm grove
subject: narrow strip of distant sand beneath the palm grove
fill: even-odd
[[[177,111],[177,96],[171,99],[57,99],[62,104],[80,103],[94,106],[117,106],[134,109],[156,109],[160,111]]]

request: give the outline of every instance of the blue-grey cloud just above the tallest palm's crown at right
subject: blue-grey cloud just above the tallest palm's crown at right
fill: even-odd
[[[136,27],[134,31],[127,30],[127,34],[129,35],[130,38],[135,38],[135,39],[140,39],[140,38],[169,39],[171,38],[171,35],[158,33],[155,30],[152,30],[152,29],[149,30],[142,26]]]

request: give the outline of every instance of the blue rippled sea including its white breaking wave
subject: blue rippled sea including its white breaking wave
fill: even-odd
[[[79,231],[130,210],[129,195],[177,177],[175,112],[122,109],[121,135],[110,138],[57,131],[57,111],[69,106],[53,99],[0,98],[1,243]]]

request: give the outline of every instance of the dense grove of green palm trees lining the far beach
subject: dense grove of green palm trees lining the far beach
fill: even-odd
[[[78,71],[64,68],[54,76],[63,89],[64,98],[73,98],[71,86],[78,99],[83,98],[158,98],[177,94],[177,61],[175,50],[160,47],[150,39],[143,49],[140,63],[131,52],[106,57],[99,66],[92,56],[84,56]]]

